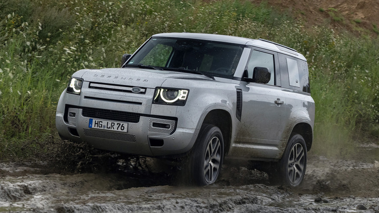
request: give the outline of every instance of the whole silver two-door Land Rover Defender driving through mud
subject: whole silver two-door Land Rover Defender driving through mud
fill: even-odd
[[[197,185],[216,181],[224,157],[275,162],[281,184],[301,183],[314,125],[302,54],[264,39],[166,33],[122,59],[72,75],[56,111],[62,139],[186,159]]]

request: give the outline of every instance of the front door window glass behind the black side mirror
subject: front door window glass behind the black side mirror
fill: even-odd
[[[253,77],[253,71],[255,67],[267,68],[271,72],[271,79],[267,84],[275,85],[275,67],[273,54],[253,50],[250,55],[249,62],[247,64],[249,78]]]

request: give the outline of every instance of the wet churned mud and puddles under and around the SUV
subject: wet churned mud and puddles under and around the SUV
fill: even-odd
[[[50,173],[42,162],[0,163],[0,212],[379,213],[379,146],[359,149],[361,157],[350,160],[310,153],[296,189],[272,185],[267,174],[233,160],[206,187],[180,186],[152,159],[68,175]]]

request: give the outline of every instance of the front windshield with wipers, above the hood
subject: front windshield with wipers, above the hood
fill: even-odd
[[[192,71],[232,78],[243,45],[187,38],[153,37],[126,66],[151,66],[162,70]]]

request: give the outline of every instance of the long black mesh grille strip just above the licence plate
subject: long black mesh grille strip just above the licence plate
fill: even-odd
[[[91,107],[83,107],[82,115],[89,118],[97,118],[111,121],[122,121],[128,123],[138,123],[139,113],[123,112],[109,109],[99,109]]]

